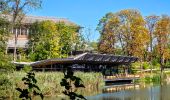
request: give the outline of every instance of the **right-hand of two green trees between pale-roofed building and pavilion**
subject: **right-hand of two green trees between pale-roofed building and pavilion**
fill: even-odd
[[[67,57],[69,53],[78,50],[80,44],[79,26],[66,25],[64,22],[56,23],[59,33],[60,57]]]

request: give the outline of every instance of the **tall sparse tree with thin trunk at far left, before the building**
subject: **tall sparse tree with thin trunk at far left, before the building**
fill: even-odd
[[[23,19],[25,13],[31,9],[40,8],[41,2],[41,0],[3,0],[0,2],[0,12],[12,16],[11,28],[14,29],[15,26],[21,24],[21,20]],[[16,33],[14,43],[14,61],[16,60],[17,36],[18,35]]]

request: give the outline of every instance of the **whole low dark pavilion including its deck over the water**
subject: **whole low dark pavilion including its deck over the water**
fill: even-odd
[[[83,53],[68,58],[52,58],[36,62],[14,62],[20,70],[24,65],[32,66],[34,71],[61,71],[67,68],[73,71],[101,72],[106,84],[127,84],[138,79],[132,73],[130,64],[138,61],[137,57],[116,56],[112,54]]]

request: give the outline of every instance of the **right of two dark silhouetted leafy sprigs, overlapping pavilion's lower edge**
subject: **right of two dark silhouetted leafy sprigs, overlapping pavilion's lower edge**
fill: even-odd
[[[67,67],[64,71],[64,78],[60,82],[61,86],[65,87],[63,93],[69,96],[71,100],[75,100],[77,97],[86,100],[83,95],[75,93],[77,91],[77,88],[85,88],[85,86],[82,84],[82,80],[79,77],[74,76],[73,74],[74,73],[70,67]]]

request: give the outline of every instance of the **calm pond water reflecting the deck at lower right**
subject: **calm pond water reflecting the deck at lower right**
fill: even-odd
[[[123,85],[105,87],[103,93],[86,97],[87,100],[170,100],[170,84]]]

